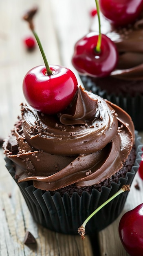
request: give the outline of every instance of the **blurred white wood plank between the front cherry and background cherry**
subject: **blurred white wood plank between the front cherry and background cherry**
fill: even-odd
[[[50,0],[50,2],[62,65],[70,68],[76,74],[78,83],[82,85],[71,58],[76,41],[88,33],[91,22],[89,13],[95,8],[95,1]]]

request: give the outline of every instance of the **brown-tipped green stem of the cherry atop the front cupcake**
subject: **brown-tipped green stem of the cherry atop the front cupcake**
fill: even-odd
[[[37,33],[35,32],[34,30],[34,24],[33,24],[33,16],[35,15],[35,13],[37,12],[37,8],[33,8],[31,9],[30,11],[28,11],[24,16],[23,16],[23,19],[26,20],[28,23],[29,23],[29,28],[31,29],[33,35],[35,36],[35,39],[37,41],[37,44],[39,46],[39,49],[40,49],[40,52],[42,54],[42,57],[43,57],[43,60],[44,60],[44,63],[45,63],[45,66],[46,66],[46,74],[48,76],[51,76],[52,75],[52,71],[48,65],[48,61],[47,61],[47,58],[46,58],[46,55],[44,53],[44,49],[42,47],[42,44],[40,42],[40,39],[39,37],[37,36]]]

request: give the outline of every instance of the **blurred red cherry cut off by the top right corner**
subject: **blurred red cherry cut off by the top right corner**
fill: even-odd
[[[114,25],[128,25],[143,11],[143,0],[99,0],[103,15]]]

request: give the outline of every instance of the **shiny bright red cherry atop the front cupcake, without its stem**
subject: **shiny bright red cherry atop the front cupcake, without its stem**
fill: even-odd
[[[52,75],[44,65],[31,69],[23,80],[23,93],[29,105],[37,111],[55,114],[64,110],[77,91],[75,74],[66,67],[50,65]]]

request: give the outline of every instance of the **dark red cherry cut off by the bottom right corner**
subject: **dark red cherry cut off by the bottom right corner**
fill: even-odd
[[[143,256],[143,204],[122,216],[119,237],[130,256]]]

